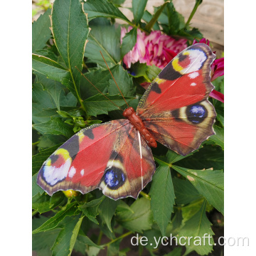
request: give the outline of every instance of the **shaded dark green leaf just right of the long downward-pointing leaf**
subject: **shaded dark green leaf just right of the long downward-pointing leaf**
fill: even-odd
[[[176,204],[185,205],[187,203],[191,203],[192,201],[202,198],[196,188],[188,180],[174,177],[173,182],[176,196]]]

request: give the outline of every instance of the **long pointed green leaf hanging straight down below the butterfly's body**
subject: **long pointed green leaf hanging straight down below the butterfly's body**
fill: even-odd
[[[159,166],[150,189],[151,210],[154,220],[161,230],[161,234],[166,235],[166,227],[171,221],[171,213],[174,211],[174,186],[171,181],[169,166]],[[161,200],[159,200],[161,198]]]

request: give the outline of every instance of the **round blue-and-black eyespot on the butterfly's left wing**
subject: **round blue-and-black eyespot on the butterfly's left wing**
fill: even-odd
[[[112,167],[105,174],[105,183],[111,189],[117,189],[124,184],[125,176],[122,170]]]

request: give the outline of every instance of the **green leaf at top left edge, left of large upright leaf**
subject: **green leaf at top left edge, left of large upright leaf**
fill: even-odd
[[[50,39],[50,9],[41,15],[32,25],[32,53],[43,49],[46,42]]]

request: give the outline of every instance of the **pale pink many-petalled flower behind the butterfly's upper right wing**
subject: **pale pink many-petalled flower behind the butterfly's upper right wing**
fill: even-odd
[[[129,32],[132,26],[129,26],[128,31],[126,28],[121,29],[121,43],[125,33]],[[185,49],[186,39],[179,39],[178,41],[171,36],[161,33],[161,31],[153,31],[148,36],[146,33],[137,30],[137,43],[134,48],[124,55],[123,61],[127,68],[131,67],[132,63],[146,63],[146,65],[156,65],[159,68],[164,68],[168,60],[164,55],[164,48],[179,53]]]

